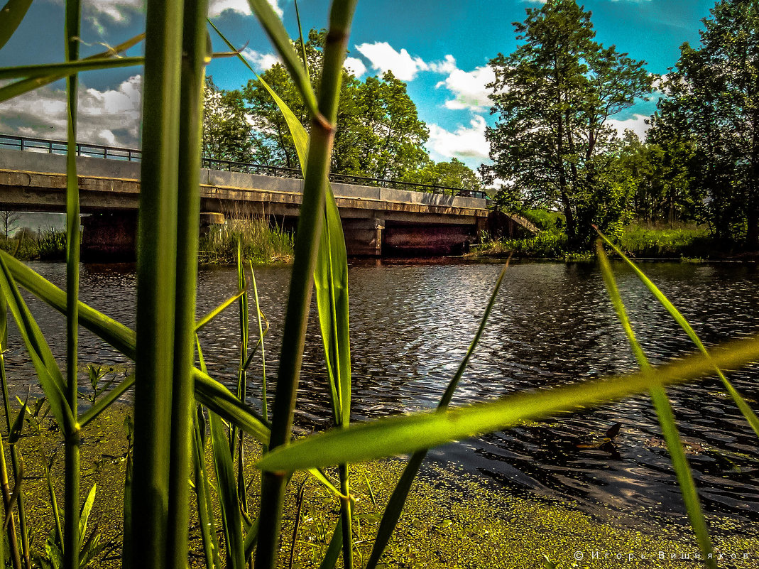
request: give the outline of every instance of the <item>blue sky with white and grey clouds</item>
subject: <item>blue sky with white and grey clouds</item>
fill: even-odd
[[[291,36],[298,34],[292,0],[269,0]],[[540,0],[359,0],[346,65],[359,78],[392,70],[408,84],[419,118],[430,129],[433,160],[458,158],[477,168],[488,163],[485,127],[493,125],[485,85],[493,80],[487,63],[518,46],[513,22]],[[701,18],[713,0],[587,0],[596,40],[647,62],[664,74],[676,64],[679,46],[698,45]],[[0,50],[0,66],[63,59],[63,0],[35,0],[14,37]],[[327,25],[329,2],[298,3],[304,29]],[[246,0],[210,0],[209,15],[257,71],[276,61],[274,50]],[[83,0],[81,56],[128,40],[144,29],[143,0]],[[212,33],[214,49],[226,46]],[[141,55],[137,46],[128,55]],[[236,58],[217,58],[206,70],[224,89],[242,87],[251,74]],[[80,75],[79,139],[139,147],[142,69],[90,71]],[[0,103],[0,134],[65,138],[65,85],[59,82]],[[644,119],[655,98],[619,113],[613,125],[644,134]]]

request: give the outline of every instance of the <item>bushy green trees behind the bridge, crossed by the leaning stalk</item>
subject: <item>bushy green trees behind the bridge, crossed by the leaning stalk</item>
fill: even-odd
[[[304,46],[311,81],[317,89],[325,39],[325,30],[310,30]],[[303,52],[300,40],[295,48],[298,54]],[[310,128],[307,109],[285,68],[273,65],[261,77]],[[289,129],[271,95],[260,81],[251,80],[243,96],[247,112],[254,117],[254,140],[267,150],[267,163],[297,168],[298,156]],[[427,163],[424,144],[428,137],[427,126],[418,119],[403,81],[388,71],[383,77],[367,77],[362,82],[343,71],[332,172],[401,178]]]

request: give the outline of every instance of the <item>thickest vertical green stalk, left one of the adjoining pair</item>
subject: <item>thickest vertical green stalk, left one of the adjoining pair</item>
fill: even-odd
[[[137,236],[137,354],[131,564],[164,567],[172,456],[179,109],[184,2],[150,0],[146,10],[143,161]],[[193,261],[193,264],[195,261]],[[182,324],[179,324],[180,328]],[[189,427],[188,427],[189,429]],[[174,473],[172,473],[174,474]],[[184,477],[184,484],[187,476]],[[173,554],[172,554],[173,555]],[[186,559],[183,560],[186,563]],[[184,565],[183,565],[184,567]]]

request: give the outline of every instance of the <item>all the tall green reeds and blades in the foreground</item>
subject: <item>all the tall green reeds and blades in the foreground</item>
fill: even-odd
[[[23,2],[9,2],[11,8]],[[2,347],[5,347],[5,305],[14,318],[21,339],[36,369],[46,394],[52,416],[58,423],[66,447],[66,497],[64,526],[58,534],[66,567],[80,567],[80,548],[89,542],[84,527],[75,523],[80,513],[87,511],[87,501],[77,498],[80,472],[77,453],[80,431],[99,413],[107,409],[126,390],[134,386],[134,450],[128,450],[124,503],[124,567],[187,566],[187,533],[189,521],[190,466],[194,473],[194,492],[198,517],[202,521],[203,562],[206,567],[242,569],[255,560],[260,569],[278,563],[282,507],[295,470],[307,470],[339,503],[330,546],[321,567],[335,567],[342,550],[344,567],[354,567],[356,542],[353,535],[354,517],[350,484],[350,464],[397,454],[413,454],[387,504],[379,537],[375,542],[369,566],[382,558],[398,518],[402,515],[411,481],[430,447],[460,438],[517,425],[524,419],[537,419],[553,413],[572,410],[577,406],[592,406],[636,394],[652,394],[662,417],[663,430],[678,473],[685,504],[699,537],[702,551],[710,551],[707,528],[698,506],[698,493],[688,482],[688,466],[682,460],[682,447],[676,436],[671,411],[667,411],[664,387],[683,381],[693,381],[721,375],[723,368],[739,368],[759,358],[759,337],[749,337],[708,352],[692,329],[686,327],[701,353],[658,367],[639,358],[642,370],[628,375],[578,384],[531,391],[499,400],[449,409],[458,380],[465,373],[471,353],[486,325],[496,299],[498,284],[487,306],[471,347],[461,366],[442,394],[439,408],[433,413],[417,413],[351,424],[351,352],[348,321],[348,267],[342,225],[332,191],[327,182],[332,141],[335,134],[335,113],[342,77],[342,63],[348,45],[354,0],[334,0],[329,13],[329,32],[324,50],[319,91],[309,82],[309,74],[294,51],[282,22],[266,0],[250,0],[272,44],[294,79],[311,114],[310,131],[304,129],[282,100],[272,97],[282,110],[291,128],[301,166],[304,169],[304,193],[297,239],[294,243],[294,262],[289,295],[285,307],[282,351],[279,369],[274,378],[275,397],[272,406],[263,406],[263,416],[250,405],[254,400],[266,401],[267,394],[250,393],[250,362],[263,360],[265,318],[257,302],[254,276],[253,292],[257,313],[257,341],[250,338],[250,284],[247,268],[238,240],[238,291],[209,315],[196,320],[195,297],[197,279],[197,243],[199,224],[199,191],[197,172],[200,166],[200,101],[203,85],[203,66],[213,56],[206,52],[203,0],[150,0],[147,4],[145,47],[145,82],[143,100],[143,163],[140,194],[140,234],[137,264],[137,329],[131,330],[107,315],[79,302],[77,285],[77,190],[74,160],[69,160],[68,177],[68,277],[67,292],[48,283],[10,255],[0,253],[0,292],[4,307],[0,311]],[[2,17],[0,40],[10,36],[20,18],[10,10]],[[67,42],[71,30],[78,27],[77,2],[67,6]],[[23,15],[23,14],[22,14]],[[75,22],[74,19],[77,19]],[[133,39],[134,40],[134,39]],[[127,45],[132,40],[122,44]],[[125,49],[125,48],[121,48]],[[77,59],[74,49],[67,48],[71,61],[48,66],[7,68],[0,77],[17,77],[20,81],[0,88],[0,99],[48,84],[58,77],[68,77],[83,69],[133,65],[140,58],[117,58],[118,50],[96,58]],[[75,92],[75,82],[69,81],[69,99]],[[71,104],[69,142],[75,137],[75,105]],[[74,228],[74,225],[77,228]],[[639,273],[651,288],[653,283]],[[606,270],[611,298],[615,303],[625,330],[621,301],[613,280]],[[500,282],[500,280],[499,280]],[[43,299],[67,315],[68,367],[61,372],[45,337],[24,301],[18,286]],[[304,352],[306,327],[313,290],[317,294],[320,330],[325,352],[325,368],[329,378],[330,403],[325,413],[332,415],[334,428],[292,442],[294,408],[298,394],[301,360]],[[669,301],[651,288],[654,296],[672,311]],[[238,302],[241,328],[241,349],[238,357],[238,385],[235,391],[209,376],[203,359],[203,349],[197,330],[229,306]],[[672,311],[683,324],[682,316]],[[687,323],[685,323],[687,324]],[[82,326],[95,333],[124,355],[134,359],[135,372],[98,400],[89,409],[78,413],[76,366],[76,330]],[[255,330],[255,328],[254,328]],[[641,350],[635,337],[628,333],[636,354]],[[260,352],[259,352],[260,350]],[[259,356],[260,354],[260,356]],[[2,356],[2,351],[0,351]],[[196,363],[197,366],[196,367]],[[0,359],[2,372],[2,359]],[[2,373],[5,378],[5,374]],[[757,420],[748,404],[732,388],[723,383],[729,394],[754,428]],[[269,382],[271,378],[269,378]],[[5,382],[4,382],[5,387]],[[7,442],[16,452],[22,412],[11,422],[7,390],[4,390]],[[19,420],[18,417],[21,417]],[[242,434],[245,435],[242,435]],[[263,458],[257,462],[261,482],[258,493],[259,510],[251,512],[247,505],[247,488],[251,480],[245,469],[243,437],[262,445]],[[213,467],[206,462],[210,450]],[[12,455],[11,455],[12,456]],[[7,463],[0,453],[0,482],[11,479],[5,472]],[[20,458],[20,457],[19,457]],[[235,468],[236,466],[236,468]],[[337,480],[323,470],[337,466]],[[8,496],[4,486],[4,504],[8,517],[8,539],[11,563],[17,569],[29,565],[28,532],[20,523],[14,533],[13,512],[24,520],[23,476],[12,466],[14,492]],[[213,470],[213,475],[211,471]],[[215,492],[215,495],[214,495]],[[8,498],[8,499],[6,499]],[[51,493],[51,504],[55,504]],[[214,504],[219,504],[219,511]],[[82,516],[84,519],[84,516]],[[214,528],[223,530],[222,542]],[[26,539],[26,541],[25,541]],[[222,555],[223,548],[223,555]],[[0,544],[5,558],[5,547]],[[84,555],[82,555],[84,558]],[[224,562],[222,562],[222,559]],[[713,560],[706,561],[714,567]]]

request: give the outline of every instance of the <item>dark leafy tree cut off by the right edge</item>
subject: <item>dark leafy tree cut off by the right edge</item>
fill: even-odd
[[[720,239],[759,246],[759,5],[723,0],[667,75],[660,123],[692,146],[691,193]]]

